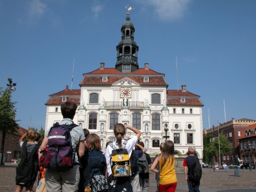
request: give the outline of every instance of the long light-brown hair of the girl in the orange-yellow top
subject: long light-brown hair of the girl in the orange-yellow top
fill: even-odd
[[[174,143],[173,141],[165,141],[163,151],[160,155],[160,161],[162,163],[169,163],[171,159],[171,163],[174,163]]]

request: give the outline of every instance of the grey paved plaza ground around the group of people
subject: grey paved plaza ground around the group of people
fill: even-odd
[[[14,191],[16,166],[0,166],[0,191]],[[184,181],[182,170],[176,170],[178,187],[176,192],[188,192],[188,187]],[[227,172],[220,170],[214,172],[211,168],[203,168],[203,176],[200,184],[201,192],[256,192],[256,170],[251,172],[248,169],[240,170],[240,176],[234,176],[234,169]],[[24,190],[23,190],[24,191]],[[156,191],[156,181],[154,173],[150,173],[150,192]]]

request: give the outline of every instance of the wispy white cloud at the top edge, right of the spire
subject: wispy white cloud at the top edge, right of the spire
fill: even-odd
[[[142,3],[141,0],[136,0]],[[146,6],[153,6],[153,11],[162,20],[173,21],[182,18],[191,0],[147,0]]]

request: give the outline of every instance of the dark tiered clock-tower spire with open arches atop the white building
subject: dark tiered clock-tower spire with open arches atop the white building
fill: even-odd
[[[134,72],[139,68],[137,59],[139,47],[134,41],[134,32],[134,24],[130,22],[128,11],[126,21],[121,27],[121,41],[119,42],[119,45],[116,46],[116,70],[122,73]]]

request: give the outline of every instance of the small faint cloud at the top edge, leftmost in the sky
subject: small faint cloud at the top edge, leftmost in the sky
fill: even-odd
[[[47,9],[47,4],[41,2],[40,0],[32,0],[29,4],[29,16],[42,17]]]

